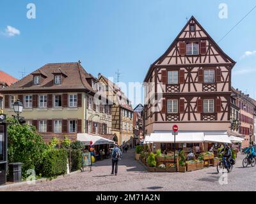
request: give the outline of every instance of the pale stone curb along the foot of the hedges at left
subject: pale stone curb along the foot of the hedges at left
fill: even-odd
[[[70,177],[71,175],[81,173],[81,172],[82,172],[81,170],[73,171],[69,174],[60,175],[60,176],[56,177],[56,179],[52,179],[52,180],[57,180],[57,179],[65,178],[65,177]],[[35,184],[50,182],[52,180],[45,179],[45,178],[38,179],[38,180],[35,180]],[[19,187],[33,186],[35,184],[31,184],[31,182],[26,182],[26,181],[25,182],[19,182],[19,183],[13,183],[13,184],[6,184],[6,185],[3,185],[3,186],[0,186],[0,191],[11,191],[12,189],[16,189],[16,188],[19,188]]]

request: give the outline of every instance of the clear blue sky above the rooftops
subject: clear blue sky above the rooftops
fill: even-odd
[[[35,3],[36,19],[26,17],[28,3]],[[228,6],[228,18],[218,16],[221,3]],[[81,60],[95,76],[116,78],[120,69],[122,82],[143,82],[186,17],[194,15],[219,41],[255,5],[254,0],[1,0],[0,68],[20,78],[24,68],[30,73],[48,62]],[[232,85],[254,98],[255,17],[256,9],[218,43],[237,62]]]

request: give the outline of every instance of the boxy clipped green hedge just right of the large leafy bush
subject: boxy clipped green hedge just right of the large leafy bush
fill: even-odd
[[[40,171],[43,177],[56,177],[67,173],[67,150],[47,150]]]

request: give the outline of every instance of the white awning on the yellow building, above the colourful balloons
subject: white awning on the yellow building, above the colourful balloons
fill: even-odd
[[[84,145],[90,145],[90,141],[93,142],[92,145],[106,145],[115,143],[113,140],[102,138],[102,136],[90,135],[87,133],[78,133],[77,140],[83,142]]]

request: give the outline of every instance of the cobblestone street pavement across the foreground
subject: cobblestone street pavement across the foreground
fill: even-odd
[[[255,191],[256,167],[243,168],[239,154],[228,175],[227,185],[219,183],[216,167],[186,173],[150,173],[134,160],[134,149],[124,153],[118,175],[110,175],[111,160],[98,161],[93,171],[82,172],[12,191]],[[223,174],[221,174],[223,175]]]

